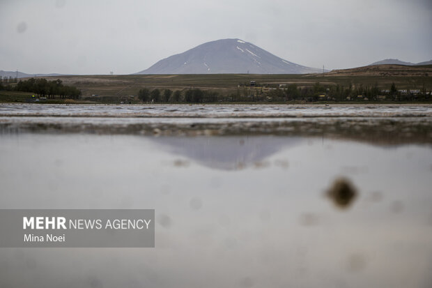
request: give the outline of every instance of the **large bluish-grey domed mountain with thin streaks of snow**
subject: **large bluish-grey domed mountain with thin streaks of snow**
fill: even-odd
[[[322,73],[279,58],[240,39],[204,43],[186,52],[169,56],[136,74],[302,74]]]

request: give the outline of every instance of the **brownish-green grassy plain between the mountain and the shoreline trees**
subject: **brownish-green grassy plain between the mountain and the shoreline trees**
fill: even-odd
[[[205,74],[205,75],[67,75],[45,77],[61,79],[63,84],[76,86],[82,91],[82,99],[91,100],[97,95],[98,101],[111,103],[118,96],[136,96],[140,89],[185,90],[198,88],[217,91],[221,95],[237,93],[239,85],[256,81],[257,86],[279,86],[297,84],[299,87],[314,86],[373,86],[390,89],[392,83],[397,89],[432,90],[432,66],[380,65],[360,68],[333,70],[324,74],[308,75],[252,75],[252,74]],[[31,93],[1,91],[1,102],[22,101]],[[95,99],[96,100],[96,99]]]

